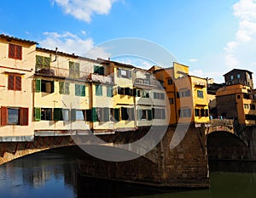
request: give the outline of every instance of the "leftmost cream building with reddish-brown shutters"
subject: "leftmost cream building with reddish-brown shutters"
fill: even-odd
[[[0,35],[0,141],[32,141],[37,42]]]

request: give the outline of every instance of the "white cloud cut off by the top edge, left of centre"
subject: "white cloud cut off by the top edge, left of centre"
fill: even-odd
[[[66,14],[90,23],[93,14],[108,14],[117,0],[54,0]]]

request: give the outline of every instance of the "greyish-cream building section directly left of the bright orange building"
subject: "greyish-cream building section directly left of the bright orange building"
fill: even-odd
[[[136,68],[133,75],[136,90],[137,127],[166,126],[169,108],[166,91],[150,71]]]

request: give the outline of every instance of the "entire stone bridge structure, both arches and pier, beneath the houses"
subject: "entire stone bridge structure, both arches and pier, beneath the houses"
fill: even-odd
[[[161,187],[208,188],[208,157],[256,159],[256,127],[234,126],[232,123],[212,120],[211,125],[190,123],[189,128],[186,125],[172,125],[167,129],[154,127],[149,144],[154,144],[158,134],[163,134],[163,137],[148,152],[139,140],[147,137],[149,128],[112,134],[35,133],[32,142],[0,143],[0,164],[58,147],[70,146],[73,153],[73,145],[79,144],[80,148],[90,151],[89,155],[81,150],[78,156],[79,173],[86,177]],[[96,144],[91,137],[101,139],[102,143]],[[132,143],[140,146],[134,149]],[[125,144],[125,152],[119,147],[122,144]],[[102,159],[119,160],[101,160],[94,157],[96,152],[104,154]],[[134,159],[127,160],[124,156]]]

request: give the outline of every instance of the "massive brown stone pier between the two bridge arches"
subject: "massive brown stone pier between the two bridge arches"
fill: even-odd
[[[164,138],[153,150],[131,161],[102,161],[92,156],[79,159],[79,174],[159,187],[208,188],[204,128],[191,124],[188,131],[176,132],[185,134],[184,138],[175,148],[170,148],[175,129],[176,126],[168,127]]]

